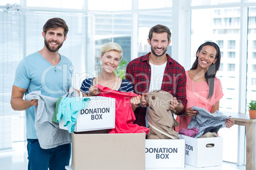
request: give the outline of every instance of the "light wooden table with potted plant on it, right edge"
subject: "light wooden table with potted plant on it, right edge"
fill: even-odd
[[[229,113],[239,126],[245,126],[246,135],[246,170],[256,169],[256,119],[247,114]]]

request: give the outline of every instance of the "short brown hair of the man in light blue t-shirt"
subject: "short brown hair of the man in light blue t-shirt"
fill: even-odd
[[[68,25],[66,24],[66,22],[64,20],[62,20],[62,18],[50,18],[45,25],[43,25],[43,32],[47,32],[47,30],[49,29],[57,29],[61,27],[62,29],[64,29],[64,37],[67,36],[68,34]]]

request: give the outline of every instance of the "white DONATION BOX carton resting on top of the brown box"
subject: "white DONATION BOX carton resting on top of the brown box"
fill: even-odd
[[[87,108],[78,111],[75,132],[96,131],[101,129],[115,128],[115,98],[103,96],[89,97]],[[68,130],[64,127],[64,121],[59,122],[60,129]]]

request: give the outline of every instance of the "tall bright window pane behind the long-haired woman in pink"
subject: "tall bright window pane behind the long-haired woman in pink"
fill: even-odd
[[[192,1],[193,3],[194,1]],[[199,1],[197,1],[199,3]],[[205,3],[223,3],[224,1],[200,1],[201,5]],[[199,5],[199,4],[198,4]],[[210,5],[210,4],[209,4]],[[224,97],[220,100],[220,111],[222,112],[238,112],[239,106],[239,67],[236,68],[235,63],[239,63],[239,58],[229,56],[239,54],[240,42],[240,13],[239,8],[214,8],[199,9],[191,11],[191,60],[190,65],[195,60],[197,48],[205,41],[217,42],[220,46],[222,54],[220,70],[217,77],[222,83],[222,91]],[[199,20],[200,18],[200,20]],[[236,19],[233,19],[236,18]],[[236,23],[237,22],[237,23]],[[232,53],[228,53],[232,52]],[[236,137],[237,128],[234,131],[227,131],[225,128],[220,131],[220,136],[225,136],[225,141],[229,141],[229,145],[224,143],[224,160],[236,162],[237,145]],[[230,139],[232,138],[232,145]],[[233,141],[234,139],[234,141]],[[234,149],[235,148],[235,149]],[[231,152],[232,150],[232,152]]]

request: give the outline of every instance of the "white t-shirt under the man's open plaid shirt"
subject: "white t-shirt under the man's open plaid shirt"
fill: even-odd
[[[150,62],[149,62],[150,63]],[[150,88],[148,89],[148,93],[154,89],[161,89],[162,79],[164,78],[164,70],[166,70],[166,63],[162,65],[154,65],[150,63],[151,67],[151,79],[150,79]],[[146,113],[148,112],[148,108],[146,108]],[[146,128],[148,128],[148,118],[145,117],[146,120]]]

